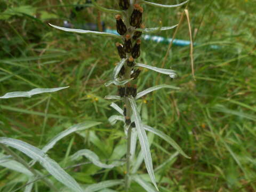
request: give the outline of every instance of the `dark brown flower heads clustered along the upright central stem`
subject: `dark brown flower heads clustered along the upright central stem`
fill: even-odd
[[[133,7],[130,5],[129,0],[119,0],[119,7],[121,10],[129,10],[130,17],[125,18],[125,21],[122,19],[122,15],[117,14],[116,19],[116,29],[117,33],[122,36],[123,44],[117,42],[116,47],[121,59],[125,59],[125,64],[119,71],[118,76],[120,78],[132,78],[136,79],[141,70],[134,69],[135,59],[140,57],[140,44],[141,40],[139,39],[142,35],[141,31],[135,29],[144,28],[142,24],[142,13],[143,9],[139,4],[134,4]],[[129,76],[127,73],[129,73]],[[125,77],[124,77],[125,76]],[[120,97],[136,97],[137,95],[137,86],[127,83],[125,86],[118,86],[118,94]],[[124,107],[124,116],[126,116],[126,107]],[[125,118],[125,123],[127,125],[131,124],[130,117]],[[131,124],[132,127],[135,127],[134,122]]]

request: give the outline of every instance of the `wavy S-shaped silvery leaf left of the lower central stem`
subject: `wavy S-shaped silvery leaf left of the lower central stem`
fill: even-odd
[[[118,162],[118,161],[116,161],[112,164],[109,164],[109,165],[107,165],[105,163],[102,163],[102,162],[100,162],[100,159],[99,159],[98,155],[96,155],[95,153],[93,153],[91,150],[88,150],[88,149],[82,149],[82,150],[77,151],[74,155],[72,155],[70,157],[70,159],[71,159],[71,161],[74,161],[75,159],[77,159],[81,156],[85,156],[94,165],[96,165],[98,167],[105,168],[105,169],[111,169],[115,166],[119,166],[119,165],[122,164],[121,162]]]

